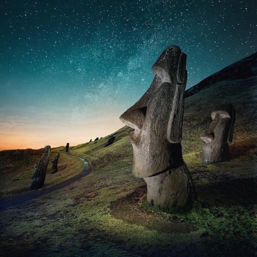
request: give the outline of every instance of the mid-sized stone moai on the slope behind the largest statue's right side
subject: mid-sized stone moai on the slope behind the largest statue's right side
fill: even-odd
[[[233,139],[235,108],[231,103],[221,103],[215,110],[211,113],[212,122],[200,135],[204,141],[202,163],[230,160],[228,144]]]

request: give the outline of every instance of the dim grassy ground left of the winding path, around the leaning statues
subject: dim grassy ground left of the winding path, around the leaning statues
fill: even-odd
[[[54,186],[81,173],[84,164],[77,158],[55,149],[51,152],[44,188]],[[51,161],[61,152],[58,172],[51,174]],[[42,150],[6,150],[0,152],[0,197],[29,191],[34,164],[41,158]]]

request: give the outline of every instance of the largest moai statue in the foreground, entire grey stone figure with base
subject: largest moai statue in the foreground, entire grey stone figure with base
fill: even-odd
[[[178,46],[163,51],[152,67],[154,80],[146,93],[120,119],[134,128],[133,174],[147,183],[147,199],[161,207],[191,207],[192,178],[182,158],[181,134],[186,54]]]

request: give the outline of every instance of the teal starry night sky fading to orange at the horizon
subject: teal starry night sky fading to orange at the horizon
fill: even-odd
[[[256,51],[255,0],[0,0],[0,150],[77,145],[123,126],[161,52],[187,88]]]

